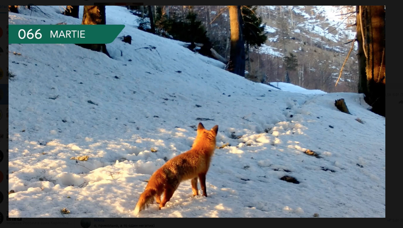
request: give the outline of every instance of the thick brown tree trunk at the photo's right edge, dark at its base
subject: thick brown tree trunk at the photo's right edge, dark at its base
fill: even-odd
[[[357,11],[359,92],[372,112],[385,116],[385,8],[357,6]]]

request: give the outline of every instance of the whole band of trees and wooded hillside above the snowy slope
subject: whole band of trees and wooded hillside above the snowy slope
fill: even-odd
[[[138,29],[190,42],[187,48],[225,63],[231,73],[266,84],[364,93],[372,111],[385,116],[385,6],[126,7],[139,16]],[[79,18],[79,6],[61,13]],[[83,25],[105,23],[105,6],[84,6]],[[80,46],[111,57],[105,44]]]

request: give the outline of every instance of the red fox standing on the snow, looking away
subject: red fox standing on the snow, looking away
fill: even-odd
[[[191,179],[192,192],[195,196],[199,195],[197,189],[197,177],[199,177],[203,195],[207,197],[206,173],[214,149],[216,149],[217,132],[218,125],[211,130],[206,130],[203,124],[199,123],[192,148],[170,159],[152,174],[144,192],[140,195],[134,214],[137,215],[145,207],[148,208],[150,203],[154,201],[154,197],[156,202],[160,204],[160,209],[164,207],[183,180]],[[162,193],[164,193],[164,199],[161,201]]]

